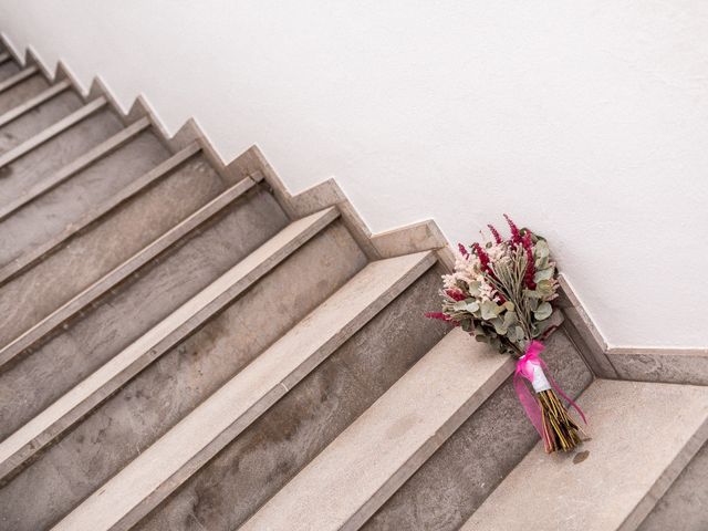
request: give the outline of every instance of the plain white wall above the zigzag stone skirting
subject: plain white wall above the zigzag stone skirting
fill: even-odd
[[[124,107],[334,176],[374,231],[550,238],[613,345],[708,345],[708,2],[0,0]]]

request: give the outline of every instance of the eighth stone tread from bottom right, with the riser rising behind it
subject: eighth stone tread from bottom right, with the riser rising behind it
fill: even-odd
[[[3,153],[0,155],[0,175],[7,175],[10,171],[8,166],[18,158],[107,105],[106,98],[102,96],[66,113],[77,100],[79,96],[73,92],[63,92],[37,107],[33,113],[25,114],[2,127],[0,148]]]

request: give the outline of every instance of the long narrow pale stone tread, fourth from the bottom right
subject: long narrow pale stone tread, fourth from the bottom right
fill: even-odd
[[[226,305],[232,303],[251,285],[258,282],[259,279],[268,274],[288,257],[292,256],[298,249],[324,230],[339,216],[339,210],[335,207],[331,207],[293,221],[283,228],[279,233],[260,246],[259,249],[254,250],[248,257],[244,257],[233,268],[185,302],[180,308],[170,313],[170,315],[160,321],[160,323],[150,329],[150,331],[143,334],[143,336],[116,354],[92,375],[76,384],[76,386],[66,392],[52,405],[6,438],[0,442],[0,485],[6,482],[8,477],[13,475],[35,452],[40,451],[56,437],[74,426],[83,416],[98,407],[112,393],[125,385],[131,378],[179,342],[184,341]],[[300,226],[303,227],[300,228]],[[298,232],[289,235],[289,239],[281,243],[280,247],[264,254],[262,250],[266,249],[271,241],[283,238],[282,235],[289,230],[298,230]],[[258,254],[264,256],[259,257]],[[239,269],[244,268],[243,264],[248,268],[249,258],[251,257],[256,257],[259,261],[253,263],[250,269],[239,271]],[[240,275],[231,279],[235,274]],[[225,283],[226,285],[220,285]],[[205,293],[209,293],[209,299],[206,302],[201,302]],[[185,312],[187,312],[186,315],[183,315]],[[171,322],[171,324],[169,326],[160,326],[167,322]],[[159,330],[162,327],[166,327],[167,330]],[[153,335],[155,335],[155,337],[152,337]],[[124,361],[123,365],[114,367],[114,365],[121,361]],[[93,383],[93,379],[103,375],[102,373],[107,373],[103,383]],[[86,387],[88,388],[86,389]],[[64,406],[60,404],[65,397],[72,394],[77,395],[73,405]],[[60,409],[60,412],[53,416],[53,420],[45,421],[41,429],[35,428],[32,430],[32,423],[40,415],[50,412],[52,408]],[[23,435],[23,430],[29,430],[30,434],[22,437],[20,441],[14,442],[13,439]],[[11,448],[3,450],[3,447],[9,445]]]

